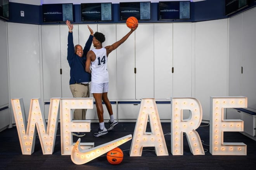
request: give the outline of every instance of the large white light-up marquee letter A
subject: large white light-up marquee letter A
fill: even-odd
[[[146,132],[148,117],[151,132]],[[157,156],[168,155],[155,99],[142,99],[133,136],[130,156],[141,156],[142,148],[150,146]]]

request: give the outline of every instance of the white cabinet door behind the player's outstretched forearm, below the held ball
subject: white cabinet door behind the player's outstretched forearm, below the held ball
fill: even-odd
[[[124,37],[130,29],[125,24],[116,25],[117,41]],[[135,99],[135,34],[116,49],[117,55],[117,91],[118,99]]]

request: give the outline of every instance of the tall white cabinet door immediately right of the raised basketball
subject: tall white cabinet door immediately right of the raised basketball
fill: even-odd
[[[135,99],[154,97],[154,24],[140,24],[135,32]]]

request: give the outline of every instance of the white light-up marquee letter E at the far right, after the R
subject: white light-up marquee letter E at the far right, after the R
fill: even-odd
[[[211,97],[210,100],[210,153],[212,155],[246,155],[244,143],[225,143],[225,131],[244,131],[244,121],[224,119],[224,108],[247,107],[247,97]]]

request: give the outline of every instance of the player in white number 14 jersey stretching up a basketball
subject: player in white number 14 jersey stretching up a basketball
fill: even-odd
[[[107,71],[107,56],[113,50],[118,48],[126,39],[131,35],[135,29],[137,29],[138,25],[131,28],[131,31],[128,32],[122,39],[115,42],[111,46],[102,47],[102,43],[105,41],[104,34],[100,32],[95,32],[93,34],[92,44],[95,49],[90,50],[86,56],[85,63],[85,71],[92,74],[92,82],[91,82],[91,93],[95,99],[97,114],[99,118],[100,128],[99,131],[94,133],[93,135],[96,137],[107,134],[108,131],[112,130],[114,126],[118,124],[116,120],[114,120],[114,115],[112,111],[111,103],[107,97],[107,92],[109,90],[109,73]],[[103,106],[102,101],[105,103],[107,107],[107,111],[109,112],[109,126],[106,129],[104,125],[103,118]]]

